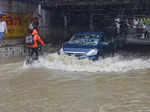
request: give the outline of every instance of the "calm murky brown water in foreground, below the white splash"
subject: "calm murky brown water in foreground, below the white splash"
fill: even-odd
[[[150,69],[63,72],[1,60],[0,112],[150,112]]]

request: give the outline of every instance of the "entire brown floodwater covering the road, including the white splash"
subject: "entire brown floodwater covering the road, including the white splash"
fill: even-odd
[[[150,112],[150,58],[97,62],[49,53],[0,61],[0,112]]]

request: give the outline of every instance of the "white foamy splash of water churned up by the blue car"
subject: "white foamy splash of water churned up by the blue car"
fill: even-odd
[[[63,71],[86,71],[86,72],[127,72],[150,68],[150,59],[125,58],[121,55],[91,61],[88,59],[78,60],[72,56],[59,56],[57,53],[40,57],[40,66]],[[37,66],[37,64],[33,65]]]

